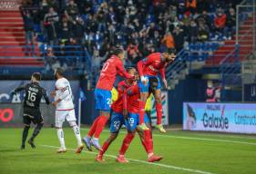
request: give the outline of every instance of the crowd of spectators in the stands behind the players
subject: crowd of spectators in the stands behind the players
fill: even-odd
[[[25,0],[37,40],[82,45],[99,66],[113,46],[128,54],[126,65],[148,53],[184,43],[221,41],[235,33],[241,0]],[[35,27],[36,26],[36,27]]]

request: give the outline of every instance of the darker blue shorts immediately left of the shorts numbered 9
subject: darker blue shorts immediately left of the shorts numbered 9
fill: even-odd
[[[124,123],[125,118],[123,114],[113,111],[110,120],[110,133],[118,133]]]

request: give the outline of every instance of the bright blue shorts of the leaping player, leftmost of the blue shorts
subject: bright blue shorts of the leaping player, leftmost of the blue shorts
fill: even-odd
[[[95,89],[96,109],[110,111],[111,92],[108,90]]]

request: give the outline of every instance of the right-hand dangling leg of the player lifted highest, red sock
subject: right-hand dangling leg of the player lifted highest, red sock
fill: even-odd
[[[156,128],[159,129],[160,132],[165,133],[165,129],[162,125],[162,116],[163,116],[163,108],[162,108],[162,100],[161,100],[161,90],[160,84],[154,92],[154,97],[156,101],[156,111],[157,111],[157,125]]]

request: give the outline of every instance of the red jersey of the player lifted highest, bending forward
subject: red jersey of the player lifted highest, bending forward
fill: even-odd
[[[138,62],[138,74],[139,76],[157,76],[158,73],[161,73],[162,78],[165,79],[165,67],[167,64],[163,62],[161,53],[151,53],[148,57]]]

